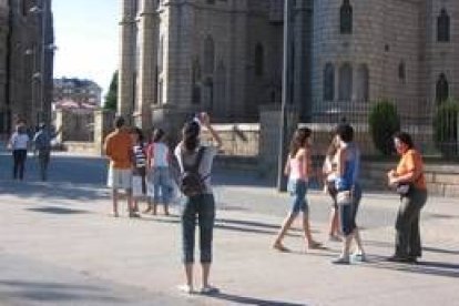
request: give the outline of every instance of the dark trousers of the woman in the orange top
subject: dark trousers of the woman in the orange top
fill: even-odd
[[[422,255],[419,216],[426,202],[427,191],[418,188],[401,198],[396,221],[396,256],[416,258]]]

